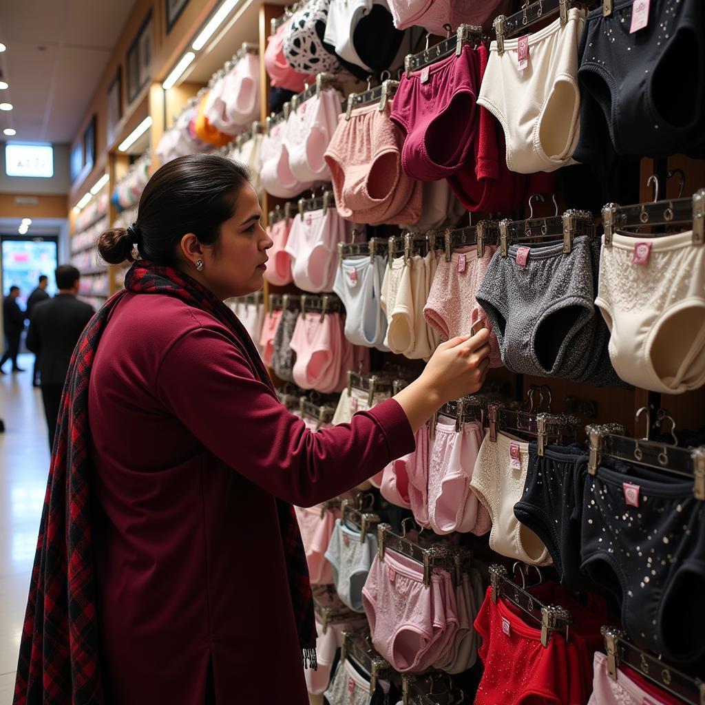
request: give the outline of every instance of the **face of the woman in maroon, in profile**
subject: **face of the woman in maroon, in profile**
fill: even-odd
[[[274,242],[262,228],[261,219],[255,189],[245,184],[238,192],[235,214],[221,225],[218,247],[202,245],[203,271],[196,273],[200,274],[197,278],[218,298],[244,296],[264,285],[266,250]]]

